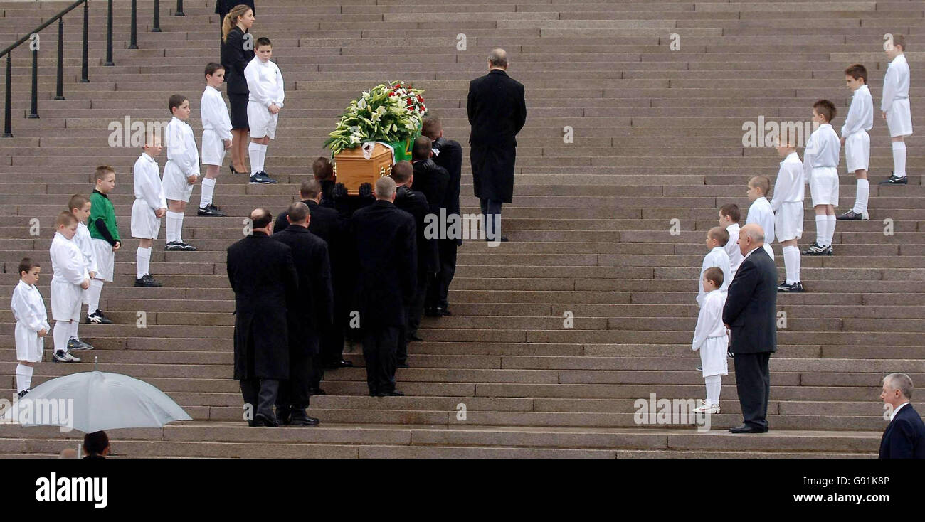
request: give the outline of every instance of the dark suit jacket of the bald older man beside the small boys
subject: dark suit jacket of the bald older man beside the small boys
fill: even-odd
[[[777,351],[777,267],[764,249],[751,252],[739,265],[729,285],[722,322],[731,332],[729,351]]]

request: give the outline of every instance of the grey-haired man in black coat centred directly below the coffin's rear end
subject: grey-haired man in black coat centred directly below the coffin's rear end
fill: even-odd
[[[395,208],[392,178],[377,179],[375,195],[376,202],[353,212],[351,219],[360,259],[357,303],[366,383],[369,395],[403,395],[395,390],[395,352],[416,285],[414,218]]]

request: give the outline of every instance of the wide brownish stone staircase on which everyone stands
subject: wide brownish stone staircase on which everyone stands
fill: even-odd
[[[26,117],[28,47],[13,53],[15,137],[0,139],[0,302],[8,303],[23,256],[43,261],[39,286],[48,302],[54,216],[70,194],[92,189],[97,164],[116,167],[112,200],[125,239],[101,303],[117,323],[82,324],[81,337],[96,349],[81,353],[80,364],[39,365],[33,385],[93,370],[97,359],[100,370],[154,384],[194,419],[111,432],[115,453],[130,457],[876,455],[883,375],[903,371],[925,383],[918,134],[907,140],[910,184],[876,185],[893,166],[879,117],[884,33],[907,35],[913,123],[925,128],[925,1],[412,2],[257,1],[253,33],[272,38],[287,86],[266,162],[280,183],[251,186],[225,167],[216,203],[228,218],[196,216],[195,188],[183,233],[199,251],[164,252],[162,233],[151,272],[163,288],[132,286],[138,241],[129,237],[130,169],[140,151],[110,147],[110,124],[124,125],[127,116],[166,121],[167,97],[179,92],[191,99],[199,140],[203,67],[218,58],[215,3],[187,1],[186,16],[174,17],[174,3],[161,2],[163,32],[155,33],[152,3],[139,2],[139,49],[129,50],[129,2],[117,1],[116,65],[104,67],[105,2],[91,2],[90,83],[78,82],[80,9],[68,15],[65,101],[54,100],[56,28],[44,30],[39,119]],[[0,2],[0,45],[65,4]],[[362,351],[348,346],[357,368],[327,372],[327,395],[313,397],[310,409],[319,427],[248,428],[231,379],[234,303],[225,269],[242,218],[256,206],[279,212],[296,200],[351,98],[395,79],[425,89],[445,135],[463,144],[462,209],[477,212],[465,96],[493,47],[509,52],[529,111],[514,200],[504,208],[511,242],[462,246],[453,315],[425,319],[424,341],[410,347],[411,368],[398,371],[406,396],[365,395]],[[712,431],[637,424],[636,399],[703,397],[690,350],[703,240],[722,204],[738,203],[745,216],[747,179],[773,180],[780,161],[772,148],[744,146],[743,125],[759,116],[805,122],[811,104],[828,98],[841,127],[851,97],[843,70],[853,62],[869,68],[878,111],[870,221],[839,222],[835,256],[803,258],[808,292],[778,298],[771,432],[725,430],[741,420],[732,372]],[[162,155],[162,168],[165,161]],[[840,173],[844,212],[855,194],[844,159]],[[808,195],[806,205],[801,247],[815,234]],[[12,397],[14,323],[2,308],[0,392]],[[145,328],[137,325],[140,311]],[[0,426],[0,455],[56,455],[80,436]]]

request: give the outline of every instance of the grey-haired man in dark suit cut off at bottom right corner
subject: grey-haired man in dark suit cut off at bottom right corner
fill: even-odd
[[[925,424],[909,402],[912,379],[905,373],[887,375],[880,398],[892,410],[880,441],[880,458],[925,458]]]

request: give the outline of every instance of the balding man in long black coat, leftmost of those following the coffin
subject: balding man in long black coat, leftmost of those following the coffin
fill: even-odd
[[[287,313],[296,307],[299,278],[288,246],[269,237],[273,214],[251,212],[252,232],[228,247],[228,282],[234,290],[234,378],[251,426],[275,428],[279,382],[289,379]]]

